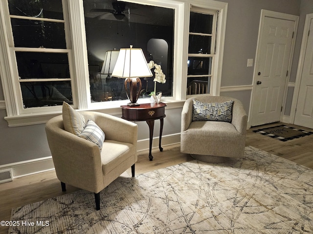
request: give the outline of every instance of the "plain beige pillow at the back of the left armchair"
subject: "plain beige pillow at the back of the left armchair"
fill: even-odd
[[[75,135],[81,134],[86,126],[85,117],[75,111],[67,102],[63,102],[62,116],[64,129]]]

